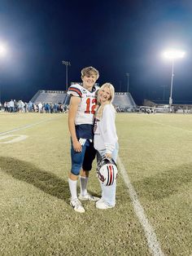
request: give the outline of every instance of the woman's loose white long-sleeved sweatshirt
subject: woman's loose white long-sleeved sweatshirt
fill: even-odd
[[[106,150],[111,153],[116,148],[118,137],[116,135],[116,111],[112,104],[103,108],[103,117],[96,119],[94,125],[94,148],[98,151]]]

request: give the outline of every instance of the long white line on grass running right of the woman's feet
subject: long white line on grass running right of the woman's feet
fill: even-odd
[[[133,185],[130,182],[129,175],[127,174],[127,171],[124,168],[123,163],[120,160],[120,157],[117,157],[118,165],[120,167],[120,172],[123,176],[124,183],[127,185],[129,189],[129,196],[131,198],[131,201],[133,203],[133,208],[135,211],[135,214],[137,215],[137,218],[139,222],[141,223],[143,230],[146,234],[146,240],[149,246],[149,249],[151,251],[151,254],[154,256],[164,256],[164,253],[162,252],[159,242],[157,241],[157,237],[155,235],[155,231],[153,227],[151,226],[151,223],[149,222],[148,218],[146,218],[146,214],[144,212],[144,209],[142,208],[141,203],[138,201],[137,192],[133,188]]]

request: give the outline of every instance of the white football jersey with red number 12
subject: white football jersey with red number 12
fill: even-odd
[[[68,88],[68,95],[81,98],[81,103],[76,112],[75,125],[94,123],[94,112],[97,103],[96,91],[98,86],[94,86],[92,91],[86,90],[83,86],[76,84]]]

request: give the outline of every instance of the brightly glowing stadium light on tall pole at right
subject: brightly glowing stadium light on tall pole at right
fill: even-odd
[[[164,51],[164,58],[172,61],[172,78],[171,78],[171,88],[170,88],[170,96],[169,96],[169,108],[170,112],[172,111],[172,84],[174,77],[174,62],[177,59],[181,59],[185,56],[185,51],[177,51],[177,50],[169,50]]]

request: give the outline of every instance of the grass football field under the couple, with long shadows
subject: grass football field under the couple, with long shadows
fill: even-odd
[[[69,205],[68,114],[0,113],[1,256],[192,255],[192,115],[118,113],[116,126],[116,207],[83,202],[78,214]],[[20,135],[27,138],[14,141]],[[95,165],[89,192],[100,196]],[[151,250],[123,171],[160,252]]]

